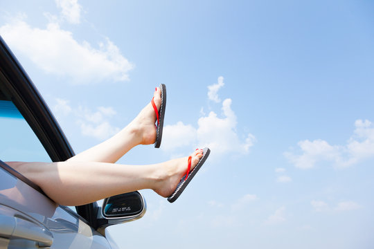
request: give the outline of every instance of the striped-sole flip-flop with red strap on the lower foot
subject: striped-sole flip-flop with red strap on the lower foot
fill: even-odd
[[[184,189],[187,187],[188,183],[192,180],[193,176],[199,171],[199,169],[202,167],[202,165],[205,163],[206,158],[208,158],[209,154],[211,153],[211,150],[208,148],[203,149],[203,156],[200,158],[199,163],[197,163],[196,167],[193,168],[193,171],[190,172],[191,167],[191,157],[188,157],[188,169],[186,174],[181,178],[181,181],[178,183],[177,187],[175,188],[174,193],[172,193],[171,196],[168,197],[168,201],[170,203],[175,202],[175,200],[178,199],[178,197],[181,195],[181,193],[184,191]]]

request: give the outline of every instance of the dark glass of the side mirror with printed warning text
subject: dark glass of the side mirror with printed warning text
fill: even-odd
[[[135,191],[118,194],[105,199],[103,203],[103,216],[106,218],[129,217],[140,214],[143,209],[143,196]]]

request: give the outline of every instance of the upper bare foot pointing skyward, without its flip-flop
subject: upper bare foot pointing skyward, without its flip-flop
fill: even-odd
[[[154,91],[154,104],[157,109],[161,107],[161,90],[159,87]],[[130,123],[132,131],[136,134],[136,140],[139,141],[139,145],[151,145],[156,141],[157,128],[155,122],[157,121],[156,113],[149,102],[143,110],[136,116]]]

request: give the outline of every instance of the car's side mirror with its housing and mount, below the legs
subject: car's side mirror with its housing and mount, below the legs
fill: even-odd
[[[138,191],[111,196],[98,208],[97,230],[105,235],[105,228],[109,225],[141,219],[146,210],[145,199]]]

